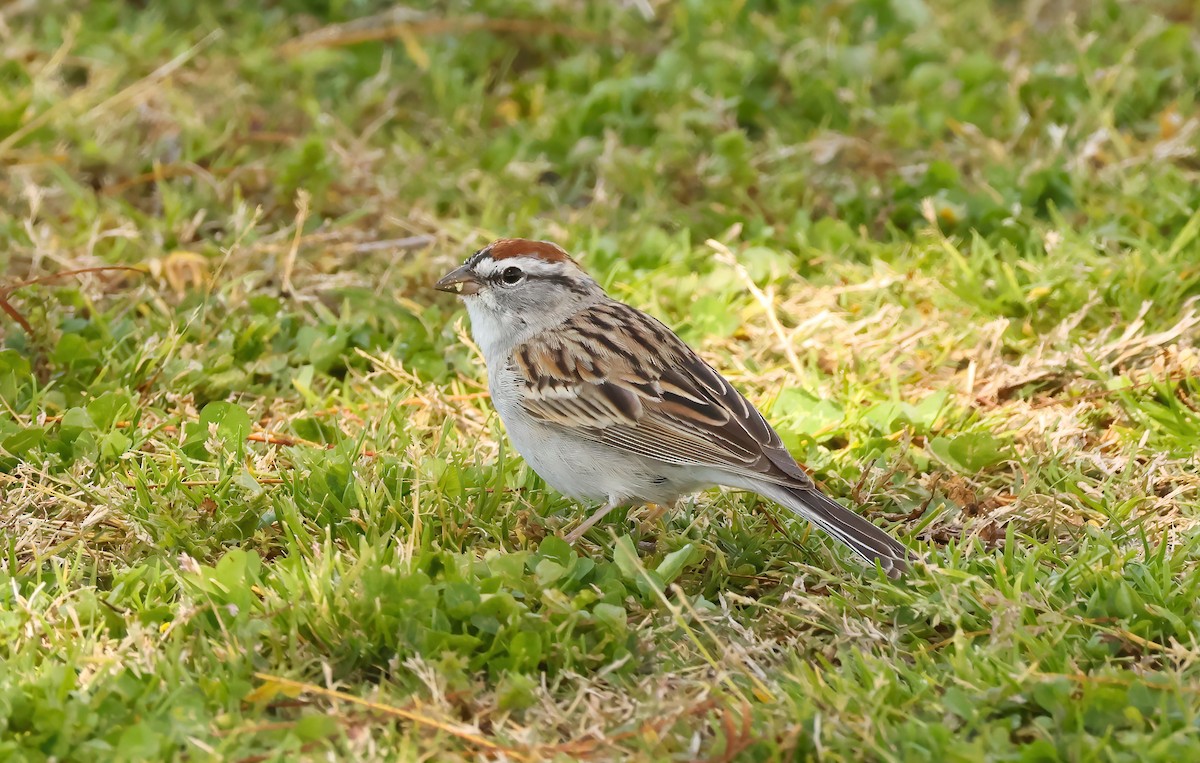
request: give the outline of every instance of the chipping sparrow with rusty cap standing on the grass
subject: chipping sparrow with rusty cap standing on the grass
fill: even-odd
[[[458,294],[512,446],[554,489],[604,506],[724,485],[787,506],[895,577],[913,559],[828,498],[754,405],[656,319],[605,294],[560,247],[500,239],[436,288]]]

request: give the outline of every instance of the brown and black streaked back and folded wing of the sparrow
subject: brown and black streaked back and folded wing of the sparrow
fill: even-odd
[[[667,463],[812,487],[745,397],[628,305],[606,301],[575,314],[517,347],[512,367],[527,385],[526,410],[547,423]]]

